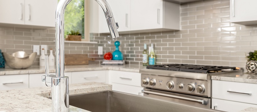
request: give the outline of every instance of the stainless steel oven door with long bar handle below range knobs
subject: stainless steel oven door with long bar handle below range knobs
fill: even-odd
[[[144,96],[157,98],[157,99],[164,99],[168,101],[183,103],[183,104],[190,104],[198,107],[205,107],[211,108],[211,98],[204,98],[186,94],[178,94],[166,91],[160,91],[155,89],[148,89],[144,88],[142,91]]]

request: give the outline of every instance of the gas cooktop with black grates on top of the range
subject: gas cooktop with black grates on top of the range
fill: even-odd
[[[233,71],[237,69],[236,67],[194,65],[194,64],[161,64],[161,65],[149,65],[146,68],[196,72],[196,73],[216,73],[216,72],[223,72],[223,71]]]

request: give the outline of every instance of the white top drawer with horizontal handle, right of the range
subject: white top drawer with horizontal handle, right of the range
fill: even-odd
[[[257,84],[212,80],[212,98],[257,104]]]

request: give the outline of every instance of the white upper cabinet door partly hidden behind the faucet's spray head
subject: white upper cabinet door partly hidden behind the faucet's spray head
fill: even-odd
[[[112,8],[113,17],[115,22],[118,22],[118,31],[129,31],[130,30],[130,0],[106,0]],[[109,33],[109,28],[106,22],[106,18],[99,6],[99,20],[101,21],[100,33]]]

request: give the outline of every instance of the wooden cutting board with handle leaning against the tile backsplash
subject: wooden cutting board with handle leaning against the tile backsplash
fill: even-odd
[[[65,65],[88,64],[88,61],[95,61],[95,58],[88,58],[87,54],[65,54]]]

